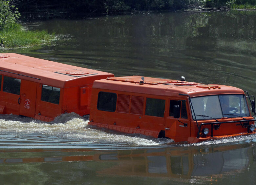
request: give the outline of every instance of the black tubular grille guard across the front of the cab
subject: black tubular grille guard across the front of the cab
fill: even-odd
[[[221,124],[225,124],[225,123],[240,123],[243,128],[247,127],[247,133],[249,133],[250,132],[249,121],[256,121],[256,119],[247,119],[247,120],[240,120],[240,121],[223,121],[223,122],[201,123],[199,125],[197,138],[199,138],[201,127],[204,126],[204,125],[211,125],[211,137],[213,137],[213,130],[214,130],[213,127],[214,127],[214,125],[218,125],[218,128],[219,128]],[[247,122],[248,124],[243,125],[242,122]]]

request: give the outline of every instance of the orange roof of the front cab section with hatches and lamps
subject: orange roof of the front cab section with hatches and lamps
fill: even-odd
[[[141,76],[109,77],[95,81],[93,88],[168,96],[179,96],[179,93],[182,93],[189,94],[191,97],[209,94],[244,94],[243,90],[232,86],[144,78],[144,84],[139,85],[139,81],[142,81]],[[208,89],[209,87],[210,89]]]

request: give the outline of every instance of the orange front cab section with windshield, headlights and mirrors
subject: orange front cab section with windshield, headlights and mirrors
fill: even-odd
[[[189,143],[255,134],[247,99],[255,115],[254,96],[235,87],[108,77],[93,84],[89,124]]]

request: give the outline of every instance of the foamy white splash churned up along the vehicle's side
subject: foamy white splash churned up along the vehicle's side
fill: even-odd
[[[1,135],[5,133],[11,135],[44,134],[46,138],[56,136],[71,142],[131,147],[156,146],[173,142],[171,139],[156,139],[140,134],[125,134],[97,128],[88,125],[88,122],[88,119],[76,113],[62,114],[48,123],[16,115],[1,115],[0,133]]]

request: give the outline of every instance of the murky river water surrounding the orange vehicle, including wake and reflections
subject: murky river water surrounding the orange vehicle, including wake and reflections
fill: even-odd
[[[256,94],[256,11],[151,13],[22,22],[53,46],[15,52],[114,73],[231,85]],[[0,184],[255,184],[256,135],[174,143],[0,115]]]

